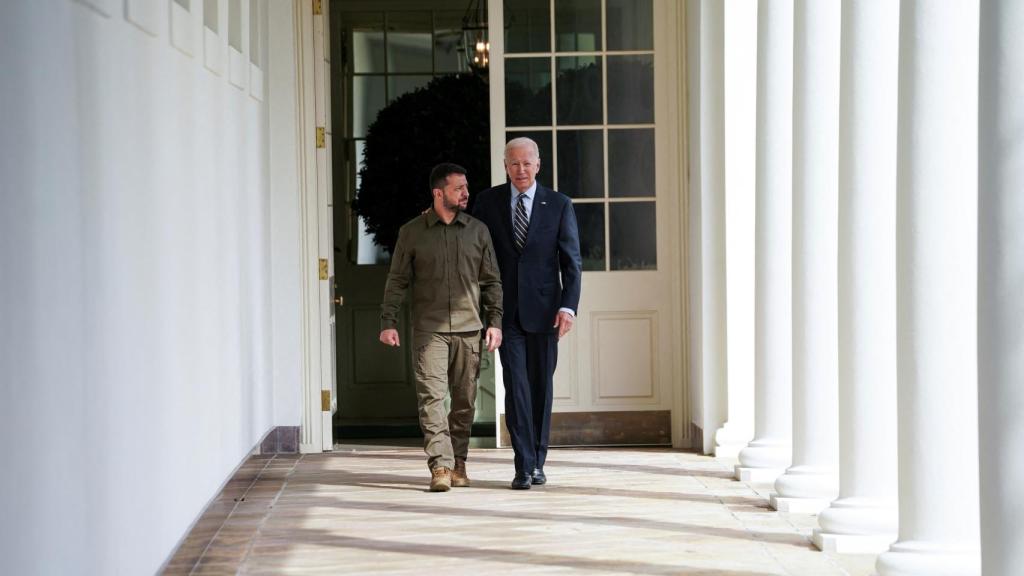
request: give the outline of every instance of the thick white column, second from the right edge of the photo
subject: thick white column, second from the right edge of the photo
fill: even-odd
[[[979,41],[978,0],[900,4],[900,526],[899,539],[879,557],[882,576],[981,572]]]

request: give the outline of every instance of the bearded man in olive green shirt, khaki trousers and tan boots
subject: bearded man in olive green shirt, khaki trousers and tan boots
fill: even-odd
[[[463,210],[466,169],[438,164],[430,172],[433,206],[398,231],[381,305],[381,342],[397,346],[398,310],[413,286],[416,396],[430,490],[469,486],[466,457],[484,345],[502,343],[502,281],[490,233]],[[451,390],[452,411],[444,397]]]

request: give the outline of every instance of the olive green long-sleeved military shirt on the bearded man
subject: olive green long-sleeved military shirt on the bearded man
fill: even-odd
[[[490,233],[465,212],[445,224],[430,209],[398,231],[381,304],[381,330],[397,327],[410,284],[417,330],[479,330],[481,299],[486,326],[502,327],[502,278]]]

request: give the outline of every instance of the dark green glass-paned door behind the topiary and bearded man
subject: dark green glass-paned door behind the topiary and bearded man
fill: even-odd
[[[459,72],[451,47],[465,4],[334,0],[331,79],[334,106],[334,243],[337,294],[338,411],[335,440],[419,435],[409,310],[402,345],[378,341],[390,255],[373,244],[351,210],[367,129],[377,112],[434,76]],[[424,174],[424,181],[427,175]],[[494,436],[494,357],[484,355],[474,434]]]

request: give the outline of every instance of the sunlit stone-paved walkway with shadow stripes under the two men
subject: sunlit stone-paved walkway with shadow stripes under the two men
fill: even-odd
[[[549,483],[508,489],[512,453],[473,449],[471,488],[426,491],[416,448],[254,456],[168,574],[867,575],[873,557],[817,551],[814,517],[770,486],[668,449],[552,450]]]

